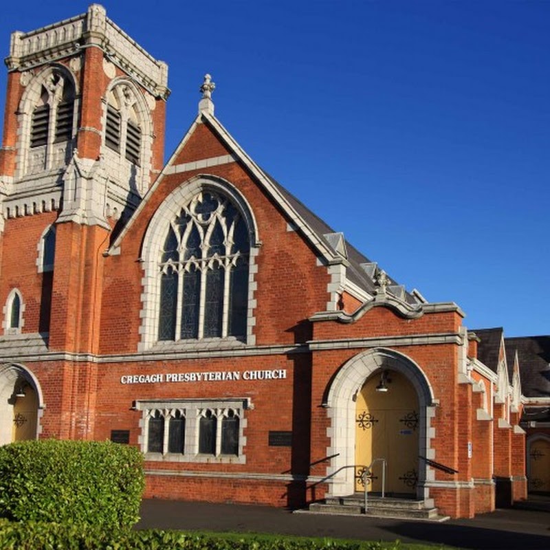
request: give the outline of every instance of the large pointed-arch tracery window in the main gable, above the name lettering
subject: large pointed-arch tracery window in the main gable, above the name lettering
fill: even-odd
[[[159,340],[244,340],[250,240],[228,197],[197,193],[170,221],[159,258]]]

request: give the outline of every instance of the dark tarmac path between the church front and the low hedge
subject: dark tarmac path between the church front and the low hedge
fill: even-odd
[[[497,510],[472,520],[443,523],[292,514],[285,509],[252,505],[144,500],[138,529],[241,531],[299,536],[396,539],[449,544],[463,549],[550,550],[550,500],[530,509]]]

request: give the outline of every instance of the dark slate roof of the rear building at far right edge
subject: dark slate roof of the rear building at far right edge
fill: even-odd
[[[523,395],[550,397],[550,336],[505,338],[505,345],[518,350]]]

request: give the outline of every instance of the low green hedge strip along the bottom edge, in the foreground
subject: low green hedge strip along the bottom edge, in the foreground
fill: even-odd
[[[2,550],[398,550],[399,542],[197,535],[161,529],[104,531],[91,525],[17,523],[0,520]]]

